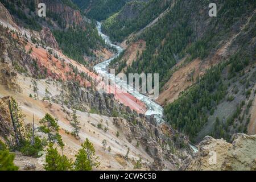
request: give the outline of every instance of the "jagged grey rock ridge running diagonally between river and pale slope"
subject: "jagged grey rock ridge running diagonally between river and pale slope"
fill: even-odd
[[[145,117],[118,103],[113,94],[89,92],[74,82],[68,82],[63,88],[59,98],[63,98],[69,107],[79,106],[77,109],[84,111],[94,109],[98,114],[110,117],[116,113],[118,117],[113,118],[113,125],[122,131],[130,143],[138,141],[154,159],[154,163],[150,165],[151,169],[177,169],[177,166],[181,166],[183,160],[192,154],[192,148],[185,135],[178,133],[166,123],[158,125],[154,116]]]

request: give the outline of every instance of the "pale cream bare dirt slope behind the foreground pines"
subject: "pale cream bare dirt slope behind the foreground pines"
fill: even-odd
[[[29,83],[29,82],[28,82]],[[26,87],[29,87],[26,85]],[[25,89],[23,89],[25,91]],[[27,95],[27,96],[26,96]],[[77,116],[79,117],[79,121],[81,122],[81,131],[80,131],[80,139],[77,140],[71,134],[67,134],[65,131],[69,133],[72,132],[72,127],[69,124],[71,120],[72,110],[68,109],[63,105],[58,104],[49,104],[48,101],[40,101],[34,100],[33,98],[28,97],[27,92],[23,92],[17,94],[15,92],[9,92],[5,90],[2,86],[0,86],[0,97],[5,96],[13,96],[18,103],[20,104],[23,113],[26,115],[25,122],[32,122],[32,115],[35,115],[35,126],[39,126],[39,120],[44,117],[46,113],[50,113],[53,117],[59,119],[58,124],[61,128],[61,136],[63,137],[63,141],[65,143],[64,154],[69,158],[74,158],[77,150],[80,148],[80,144],[88,138],[96,149],[96,155],[101,158],[101,167],[99,169],[133,169],[133,160],[138,160],[141,156],[143,159],[143,163],[145,166],[148,166],[149,163],[154,162],[152,159],[141,147],[136,147],[137,141],[129,142],[125,135],[123,135],[122,131],[119,130],[113,124],[113,118],[105,117],[98,114],[89,114],[81,111],[77,111]],[[99,129],[97,125],[101,123],[102,129]],[[108,127],[108,131],[104,131],[104,127]],[[119,137],[116,136],[117,131],[119,131]],[[102,140],[107,140],[107,146],[112,148],[111,152],[102,149]],[[130,148],[129,158],[131,160],[124,160],[123,164],[119,164],[116,160],[116,155],[125,156],[127,152],[127,148]],[[20,158],[24,159],[23,162],[18,162]],[[33,158],[27,158],[24,156],[20,156],[20,158],[16,158],[16,163],[20,165],[22,169],[23,166],[29,162],[34,163],[38,166],[38,169],[42,169],[40,167],[40,160],[36,160]],[[32,161],[31,161],[32,160]],[[145,168],[146,169],[146,168]]]

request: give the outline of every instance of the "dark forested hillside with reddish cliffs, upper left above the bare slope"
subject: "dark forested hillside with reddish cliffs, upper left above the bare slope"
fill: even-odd
[[[65,55],[79,63],[87,64],[85,56],[94,56],[95,50],[107,47],[95,24],[86,21],[79,7],[70,0],[42,1],[47,6],[46,18],[39,18],[34,0],[0,2],[23,27],[36,31],[49,27]]]

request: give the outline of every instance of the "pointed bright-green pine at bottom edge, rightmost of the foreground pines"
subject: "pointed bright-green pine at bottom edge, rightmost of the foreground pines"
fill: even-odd
[[[95,155],[93,144],[86,138],[81,146],[82,148],[76,155],[75,169],[77,171],[90,171],[92,168],[98,168],[100,162],[98,162],[99,158]]]

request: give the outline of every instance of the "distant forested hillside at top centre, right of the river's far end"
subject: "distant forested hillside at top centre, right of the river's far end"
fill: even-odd
[[[102,28],[114,41],[122,42],[132,32],[146,27],[171,3],[171,0],[131,1],[121,11],[106,19]]]

